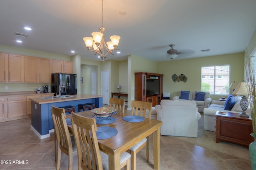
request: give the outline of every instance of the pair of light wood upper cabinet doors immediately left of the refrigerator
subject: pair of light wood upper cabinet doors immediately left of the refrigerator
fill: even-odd
[[[51,68],[51,59],[24,56],[24,82],[50,83]]]

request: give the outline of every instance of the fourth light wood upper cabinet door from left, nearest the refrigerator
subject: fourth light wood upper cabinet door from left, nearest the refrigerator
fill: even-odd
[[[52,59],[39,58],[39,82],[52,82]]]

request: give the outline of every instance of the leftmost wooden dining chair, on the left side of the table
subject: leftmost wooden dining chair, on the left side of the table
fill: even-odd
[[[68,131],[65,109],[54,107],[54,105],[52,105],[51,113],[55,134],[54,146],[57,170],[60,169],[61,152],[68,155],[68,169],[72,170],[73,155],[76,154],[76,143],[74,136],[70,136]]]

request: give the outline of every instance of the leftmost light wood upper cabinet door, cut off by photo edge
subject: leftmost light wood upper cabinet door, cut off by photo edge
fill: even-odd
[[[8,82],[8,54],[0,53],[0,82]]]

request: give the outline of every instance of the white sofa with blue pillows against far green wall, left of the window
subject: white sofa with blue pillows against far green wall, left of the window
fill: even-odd
[[[212,102],[212,98],[210,98],[210,93],[206,92],[205,93],[205,97],[204,97],[204,101],[198,101],[198,100],[194,100],[195,96],[196,96],[196,92],[191,92],[189,94],[189,99],[180,99],[181,96],[181,91],[178,92],[177,96],[172,97],[172,100],[179,100],[179,101],[188,101],[188,100],[192,100],[196,102],[196,107],[198,108],[198,112],[203,112],[204,108],[208,108],[210,106],[210,103]]]

